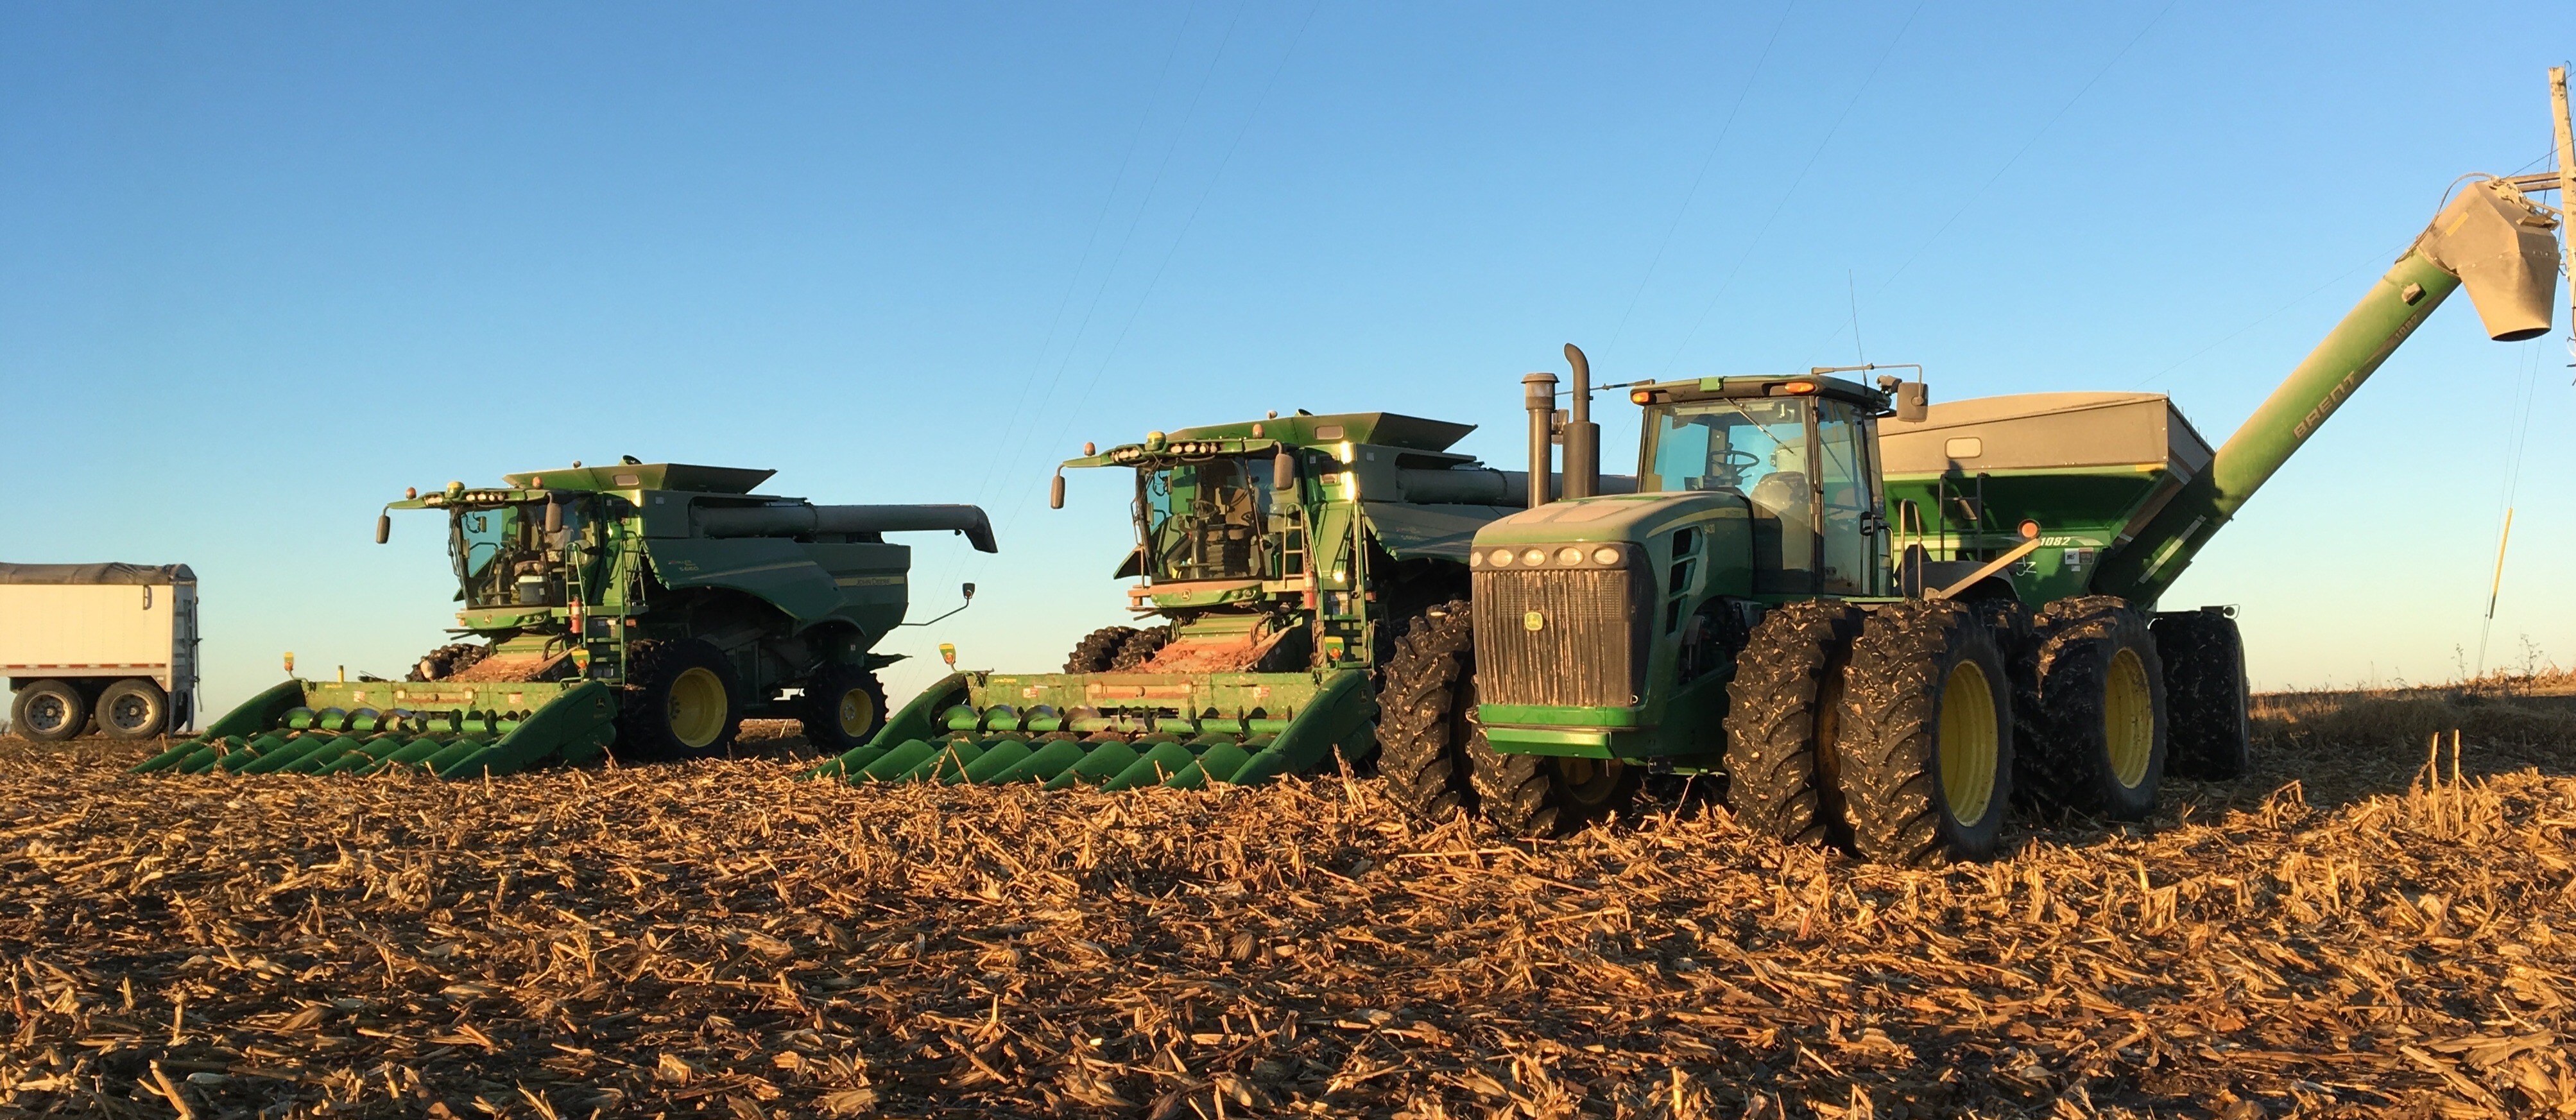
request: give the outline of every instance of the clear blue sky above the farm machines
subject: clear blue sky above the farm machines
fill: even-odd
[[[13,3],[0,559],[193,564],[224,711],[443,641],[443,525],[371,543],[407,484],[984,502],[999,556],[912,541],[914,615],[981,595],[904,698],[1121,621],[1126,481],[1046,510],[1082,440],[1394,409],[1510,466],[1569,340],[2218,443],[2452,178],[2548,167],[2558,10]],[[2442,306],[2169,605],[2241,605],[2259,685],[2450,677],[2514,487],[2486,662],[2576,662],[2566,366]]]

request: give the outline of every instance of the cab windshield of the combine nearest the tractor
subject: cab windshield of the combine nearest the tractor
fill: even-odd
[[[1270,579],[1270,461],[1203,458],[1139,474],[1146,574],[1154,579]]]

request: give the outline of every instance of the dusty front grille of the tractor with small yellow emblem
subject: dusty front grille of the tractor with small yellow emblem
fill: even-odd
[[[1633,705],[1646,667],[1636,587],[1631,569],[1476,572],[1476,700]]]

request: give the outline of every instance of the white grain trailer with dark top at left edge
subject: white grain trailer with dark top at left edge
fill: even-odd
[[[0,564],[10,731],[62,742],[93,723],[152,739],[196,718],[188,564]]]

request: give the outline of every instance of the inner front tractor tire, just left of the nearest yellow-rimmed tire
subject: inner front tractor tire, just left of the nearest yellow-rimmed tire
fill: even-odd
[[[1785,845],[1839,832],[1834,731],[1842,672],[1860,610],[1834,600],[1790,602],[1754,626],[1726,685],[1726,803],[1747,829]]]

